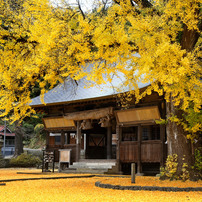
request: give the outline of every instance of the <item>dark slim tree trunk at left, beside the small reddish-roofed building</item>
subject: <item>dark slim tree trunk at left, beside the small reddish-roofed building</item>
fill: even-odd
[[[19,156],[23,153],[23,134],[22,127],[16,122],[15,123],[15,153],[14,157]]]

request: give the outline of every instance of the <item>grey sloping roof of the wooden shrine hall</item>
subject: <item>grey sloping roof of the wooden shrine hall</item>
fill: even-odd
[[[110,96],[120,92],[126,92],[129,89],[122,86],[123,80],[125,80],[123,76],[113,76],[111,82],[106,82],[106,84],[102,84],[99,86],[92,85],[90,87],[90,84],[92,84],[92,82],[90,83],[86,80],[86,78],[77,81],[77,83],[71,79],[66,79],[64,83],[59,84],[52,90],[45,93],[44,102],[46,104],[55,104],[72,101],[82,101],[86,99]],[[143,88],[148,85],[148,83],[138,83],[139,88]],[[43,105],[40,96],[32,99],[30,105]]]

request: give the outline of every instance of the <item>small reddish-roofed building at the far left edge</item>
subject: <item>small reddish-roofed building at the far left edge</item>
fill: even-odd
[[[0,138],[4,140],[5,126],[0,125]],[[5,142],[5,156],[13,155],[15,152],[15,133],[6,127],[6,142]],[[1,149],[2,155],[4,154],[4,146]]]

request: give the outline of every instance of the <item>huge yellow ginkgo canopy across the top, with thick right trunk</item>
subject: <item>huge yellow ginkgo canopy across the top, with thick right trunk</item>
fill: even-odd
[[[66,77],[101,84],[121,72],[137,102],[152,91],[165,96],[168,153],[193,164],[202,119],[201,0],[118,0],[90,13],[47,0],[0,2],[2,117],[34,113],[36,84],[43,95],[47,83]],[[139,81],[151,84],[142,94]]]

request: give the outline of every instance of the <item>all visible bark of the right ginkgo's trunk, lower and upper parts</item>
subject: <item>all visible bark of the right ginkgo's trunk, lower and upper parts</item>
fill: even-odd
[[[199,10],[196,10],[196,13],[199,14]],[[202,24],[199,25],[199,29],[202,29]],[[189,30],[187,25],[184,25],[181,47],[187,52],[191,52],[196,45],[199,32],[197,30]],[[170,102],[166,104],[166,113],[168,118],[168,124],[166,127],[167,132],[167,142],[168,142],[168,155],[177,154],[178,155],[178,171],[180,174],[182,170],[183,163],[186,163],[189,168],[194,164],[194,149],[190,140],[186,138],[186,131],[183,130],[183,127],[176,122],[171,122],[169,117],[176,115],[178,118],[182,118],[182,111],[176,109],[172,96]],[[182,160],[184,159],[184,160]],[[192,178],[192,169],[190,171],[190,177]]]

